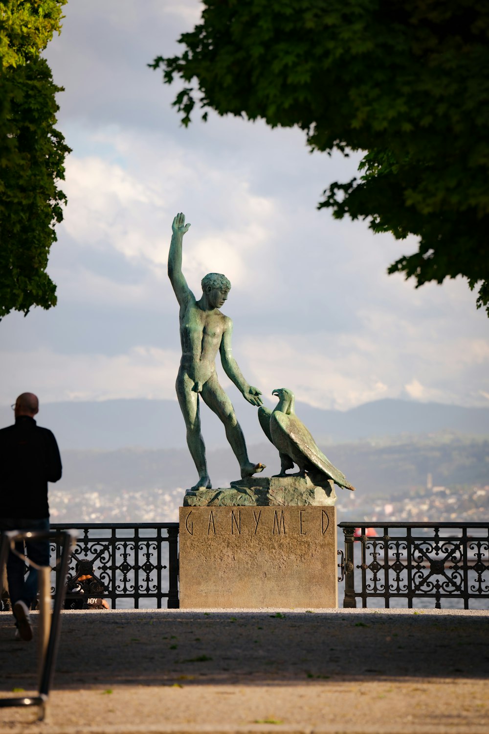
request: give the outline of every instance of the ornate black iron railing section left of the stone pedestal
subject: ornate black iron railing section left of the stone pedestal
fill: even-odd
[[[51,523],[53,531],[67,528],[78,531],[68,584],[91,564],[94,581],[113,609],[124,599],[133,600],[134,608],[152,599],[159,609],[165,598],[169,609],[178,608],[178,523]],[[51,558],[59,558],[55,544]]]

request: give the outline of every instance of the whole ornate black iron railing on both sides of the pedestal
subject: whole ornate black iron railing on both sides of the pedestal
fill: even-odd
[[[367,536],[367,527],[377,528],[378,535]],[[152,607],[161,608],[165,599],[168,608],[179,607],[178,523],[51,524],[52,531],[68,528],[78,531],[68,584],[89,564],[112,608],[121,600],[132,601],[135,608],[152,600]],[[444,599],[463,600],[466,609],[470,600],[483,600],[489,608],[489,522],[352,522],[339,528],[345,537],[345,550],[338,551],[344,607],[356,607],[357,599],[367,607],[375,598],[389,607],[391,600],[403,597],[409,608],[422,599],[433,599],[438,609]],[[54,572],[59,556],[53,543]]]

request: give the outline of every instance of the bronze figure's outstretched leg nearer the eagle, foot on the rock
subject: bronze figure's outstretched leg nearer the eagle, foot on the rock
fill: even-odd
[[[226,437],[232,451],[234,451],[235,457],[238,459],[242,478],[253,476],[253,474],[265,469],[264,464],[254,464],[249,460],[243,431],[236,419],[235,409],[232,407],[232,402],[229,400],[227,394],[221,388],[221,385],[219,385],[216,373],[207,380],[202,388],[201,394],[205,404],[221,418],[224,424]]]

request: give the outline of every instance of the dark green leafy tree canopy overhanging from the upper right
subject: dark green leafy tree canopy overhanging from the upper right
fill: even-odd
[[[319,208],[419,237],[388,272],[463,275],[489,313],[489,4],[478,0],[207,0],[174,106],[298,126],[312,150],[364,151]]]

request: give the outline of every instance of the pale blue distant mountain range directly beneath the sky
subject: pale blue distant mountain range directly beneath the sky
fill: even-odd
[[[263,443],[256,409],[238,399],[235,408],[247,443]],[[297,402],[295,412],[323,446],[444,431],[489,436],[489,407],[384,399],[345,412]],[[11,424],[12,419],[10,408],[0,409],[1,426]],[[227,446],[223,426],[205,405],[201,419],[207,448]],[[172,400],[46,403],[41,405],[37,421],[54,432],[62,449],[185,448],[185,425],[177,402]]]

